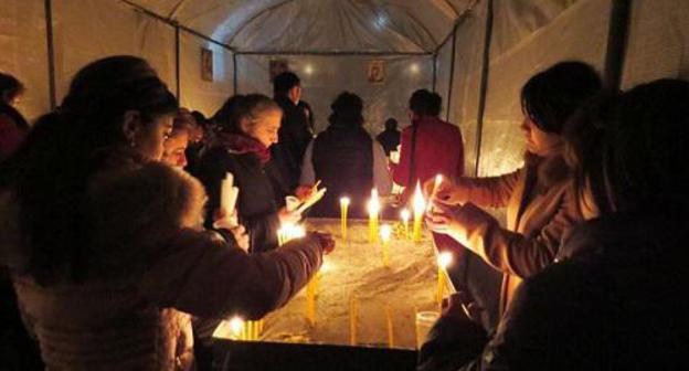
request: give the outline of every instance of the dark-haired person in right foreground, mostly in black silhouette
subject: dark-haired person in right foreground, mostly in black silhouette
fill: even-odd
[[[564,137],[577,201],[593,219],[572,230],[558,263],[517,289],[487,343],[463,310],[448,310],[420,370],[685,368],[689,83],[597,97]]]

